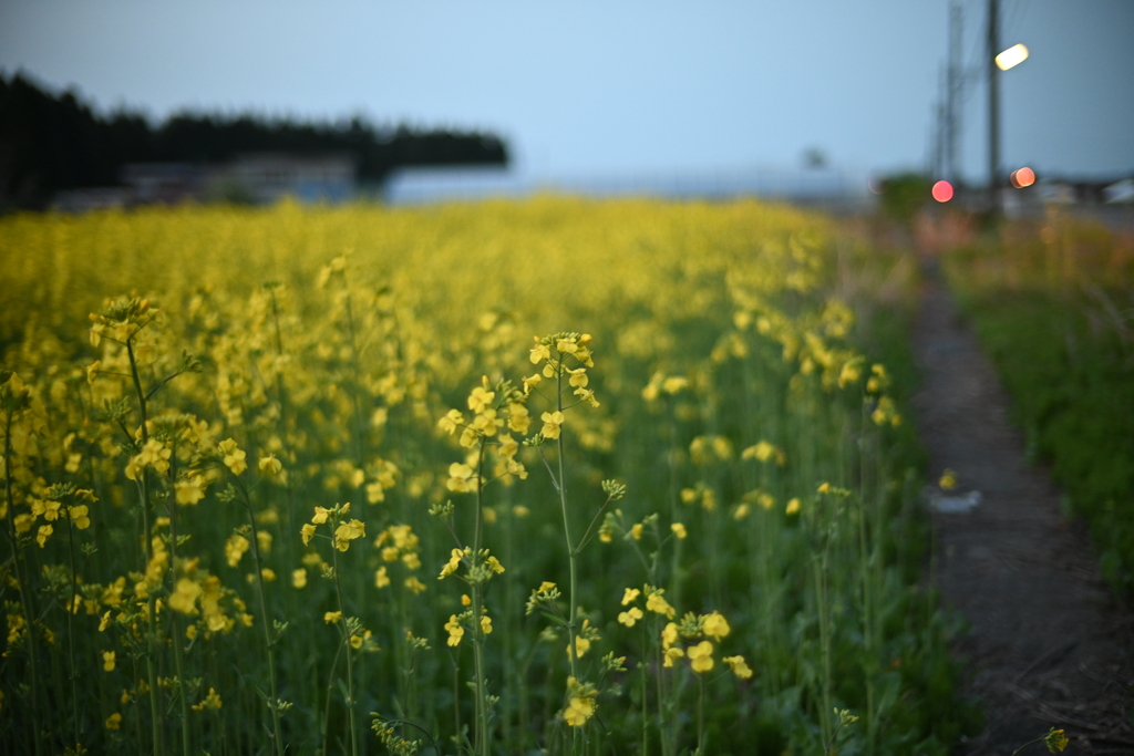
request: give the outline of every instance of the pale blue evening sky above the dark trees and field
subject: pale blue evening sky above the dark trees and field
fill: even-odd
[[[963,0],[965,58],[984,0]],[[1004,162],[1134,170],[1134,1],[1002,0]],[[925,163],[946,0],[0,0],[0,70],[100,109],[485,128],[545,176]],[[983,178],[983,85],[965,169]]]

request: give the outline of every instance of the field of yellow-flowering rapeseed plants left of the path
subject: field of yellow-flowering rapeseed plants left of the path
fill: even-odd
[[[550,196],[14,215],[0,264],[6,753],[959,734],[863,317],[912,267],[831,221]]]

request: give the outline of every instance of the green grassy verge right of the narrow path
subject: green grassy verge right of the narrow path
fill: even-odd
[[[1134,595],[1134,297],[1112,264],[1123,247],[1073,229],[1072,256],[1023,233],[950,255],[948,280],[1012,397],[1029,457],[1090,526],[1103,576]]]

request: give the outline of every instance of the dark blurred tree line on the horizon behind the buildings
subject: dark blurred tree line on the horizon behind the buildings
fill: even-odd
[[[369,182],[403,165],[508,163],[505,142],[482,131],[188,111],[154,126],[125,109],[100,116],[74,91],[56,95],[23,74],[0,75],[0,211],[41,210],[62,189],[117,186],[127,163],[223,163],[251,152],[349,153]]]

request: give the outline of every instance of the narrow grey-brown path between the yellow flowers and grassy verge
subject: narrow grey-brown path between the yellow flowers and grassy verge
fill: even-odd
[[[951,468],[959,493],[982,494],[968,512],[934,513],[934,577],[970,625],[956,653],[987,721],[959,751],[1010,754],[1056,727],[1068,754],[1134,754],[1132,618],[1100,579],[1083,528],[1060,515],[1046,472],[1026,462],[991,364],[929,278],[915,334],[919,426],[932,470]]]

